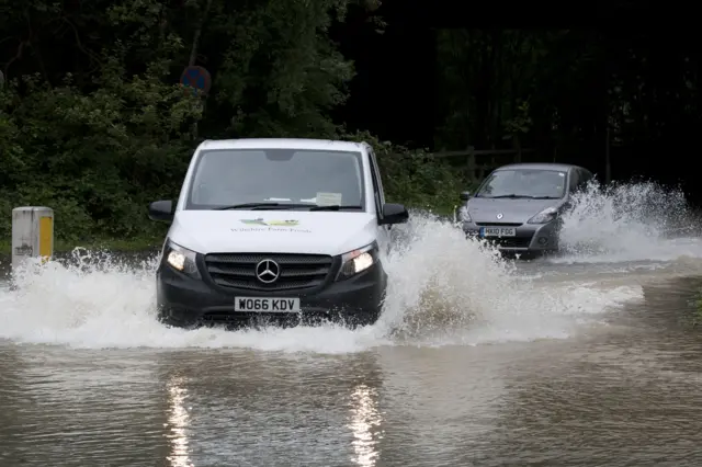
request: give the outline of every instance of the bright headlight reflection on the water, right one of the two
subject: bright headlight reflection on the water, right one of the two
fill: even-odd
[[[377,407],[377,389],[361,384],[351,394],[351,423],[353,433],[353,460],[360,467],[373,467],[377,460],[378,442],[383,432],[375,433],[383,418]]]

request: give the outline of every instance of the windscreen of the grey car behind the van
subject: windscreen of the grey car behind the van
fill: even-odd
[[[565,171],[514,169],[492,172],[475,196],[561,198],[565,191]]]

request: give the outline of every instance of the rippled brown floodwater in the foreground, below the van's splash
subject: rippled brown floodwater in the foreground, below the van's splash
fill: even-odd
[[[645,286],[568,340],[343,356],[0,342],[0,467],[700,467],[702,331],[681,319],[700,287]]]

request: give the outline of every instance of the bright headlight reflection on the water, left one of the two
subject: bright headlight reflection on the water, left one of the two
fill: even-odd
[[[168,401],[170,413],[167,425],[170,426],[166,435],[171,444],[171,454],[168,456],[170,467],[193,467],[188,455],[188,424],[190,417],[185,408],[188,389],[183,387],[184,379],[174,376],[168,383]]]

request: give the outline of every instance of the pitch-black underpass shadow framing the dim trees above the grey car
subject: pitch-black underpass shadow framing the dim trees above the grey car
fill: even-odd
[[[359,10],[352,10],[348,23],[333,32],[358,70],[351,98],[336,113],[337,119],[353,128],[369,128],[382,139],[441,149],[435,145],[435,128],[441,125],[438,100],[442,70],[437,49],[440,30],[480,29],[499,33],[502,27],[485,25],[523,25],[529,20],[533,24],[548,20],[568,23],[574,19],[577,24],[591,22],[600,25],[570,27],[576,32],[570,45],[587,47],[589,42],[598,48],[596,69],[580,77],[579,82],[565,87],[569,89],[556,98],[562,106],[570,107],[571,118],[579,121],[573,125],[577,130],[565,138],[550,132],[532,133],[522,147],[536,149],[534,158],[545,161],[552,160],[557,150],[558,161],[587,167],[604,180],[609,140],[612,180],[654,180],[679,186],[690,202],[702,203],[697,170],[702,130],[697,93],[702,86],[698,78],[702,71],[699,66],[702,36],[690,22],[689,7],[645,2],[592,2],[579,8],[511,2],[467,7],[446,1],[389,0],[377,13],[387,22],[383,35],[373,34],[373,29],[363,21],[366,14]],[[547,30],[528,27],[528,31]],[[686,87],[683,66],[694,77],[689,86],[695,91],[684,96],[676,95]],[[607,105],[608,88],[614,86],[612,73],[635,76],[656,94],[642,98],[636,96],[636,89],[629,90],[630,95],[639,100],[638,111],[645,107],[647,127],[620,132],[619,138],[612,128],[608,138],[607,110],[602,109]],[[502,144],[502,147],[511,146]],[[476,149],[484,148],[476,145]]]

